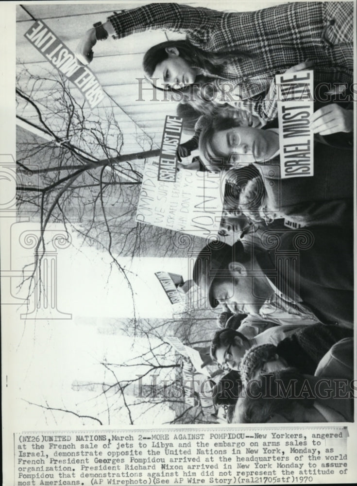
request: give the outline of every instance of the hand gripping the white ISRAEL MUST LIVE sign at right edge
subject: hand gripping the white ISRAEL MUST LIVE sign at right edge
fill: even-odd
[[[353,110],[331,103],[323,106],[311,117],[311,129],[320,135],[331,135],[338,132],[352,132]]]

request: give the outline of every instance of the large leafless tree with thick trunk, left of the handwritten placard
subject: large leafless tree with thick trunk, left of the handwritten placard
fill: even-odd
[[[177,256],[175,232],[135,221],[145,160],[159,154],[152,140],[151,148],[143,150],[148,137],[138,136],[138,150],[122,155],[125,135],[113,108],[88,116],[85,102],[73,96],[59,73],[34,74],[23,66],[16,94],[17,119],[35,129],[18,129],[17,136],[17,208],[20,215],[31,213],[41,234],[33,272],[22,282],[29,284],[29,294],[50,223],[75,230],[87,244],[108,251],[129,287],[118,255]]]

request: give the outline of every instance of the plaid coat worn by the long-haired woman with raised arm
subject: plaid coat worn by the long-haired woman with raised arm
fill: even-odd
[[[315,83],[353,82],[353,5],[352,1],[294,2],[254,12],[225,13],[152,3],[115,13],[108,20],[115,38],[169,30],[186,34],[204,51],[254,54],[222,67],[219,76],[204,74],[221,90],[219,101],[272,120],[276,117],[274,75],[306,59],[313,61]],[[221,89],[224,83],[229,83],[225,93]],[[266,93],[264,99],[252,99],[262,92]]]

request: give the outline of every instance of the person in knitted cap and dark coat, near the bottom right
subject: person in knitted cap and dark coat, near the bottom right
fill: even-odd
[[[257,379],[262,373],[287,367],[313,375],[325,353],[341,339],[348,337],[353,337],[352,330],[315,324],[296,330],[276,346],[253,346],[246,351],[240,362],[241,379],[248,382]]]

